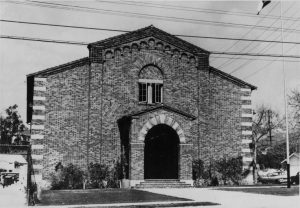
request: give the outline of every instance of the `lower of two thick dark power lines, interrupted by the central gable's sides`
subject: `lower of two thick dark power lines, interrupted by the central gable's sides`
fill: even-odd
[[[26,41],[38,41],[38,42],[47,42],[47,43],[60,43],[60,44],[71,44],[71,45],[88,45],[86,42],[76,42],[76,41],[64,41],[64,40],[52,40],[52,39],[42,39],[42,38],[31,38],[31,37],[21,37],[21,36],[9,36],[9,35],[0,35],[0,38],[5,39],[15,39],[15,40],[26,40]],[[287,55],[282,56],[279,54],[258,54],[258,53],[238,53],[238,52],[220,52],[220,51],[211,51],[211,54],[222,54],[222,55],[239,55],[239,56],[263,56],[263,57],[273,57],[273,58],[300,58],[300,56]]]

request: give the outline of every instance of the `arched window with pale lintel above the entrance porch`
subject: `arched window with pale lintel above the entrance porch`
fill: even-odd
[[[162,103],[163,75],[155,66],[146,66],[139,73],[139,102],[146,104]]]

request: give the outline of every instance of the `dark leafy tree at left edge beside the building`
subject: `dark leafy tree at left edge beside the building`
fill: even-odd
[[[10,106],[5,110],[6,115],[0,116],[0,144],[28,144],[27,128],[21,120],[17,108],[17,105]]]

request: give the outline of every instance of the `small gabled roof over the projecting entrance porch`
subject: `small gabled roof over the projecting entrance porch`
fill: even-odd
[[[143,114],[146,114],[146,113],[150,113],[150,112],[153,112],[153,111],[157,111],[157,110],[166,110],[166,111],[169,111],[169,112],[173,112],[173,113],[177,113],[177,114],[180,114],[190,120],[195,120],[196,119],[196,116],[194,115],[191,115],[189,113],[186,113],[184,111],[181,111],[179,109],[176,109],[176,108],[173,108],[171,106],[168,106],[168,105],[159,105],[159,106],[156,106],[156,107],[153,107],[153,108],[148,108],[148,109],[144,109],[144,110],[141,110],[141,111],[138,111],[138,112],[134,112],[134,113],[131,113],[129,115],[127,115],[128,117],[135,117],[135,116],[140,116],[140,115],[143,115]]]

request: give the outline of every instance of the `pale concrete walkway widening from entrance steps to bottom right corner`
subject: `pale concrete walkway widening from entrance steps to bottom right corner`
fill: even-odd
[[[221,204],[213,206],[216,208],[297,208],[300,204],[299,196],[262,195],[212,188],[147,189],[146,191]]]

